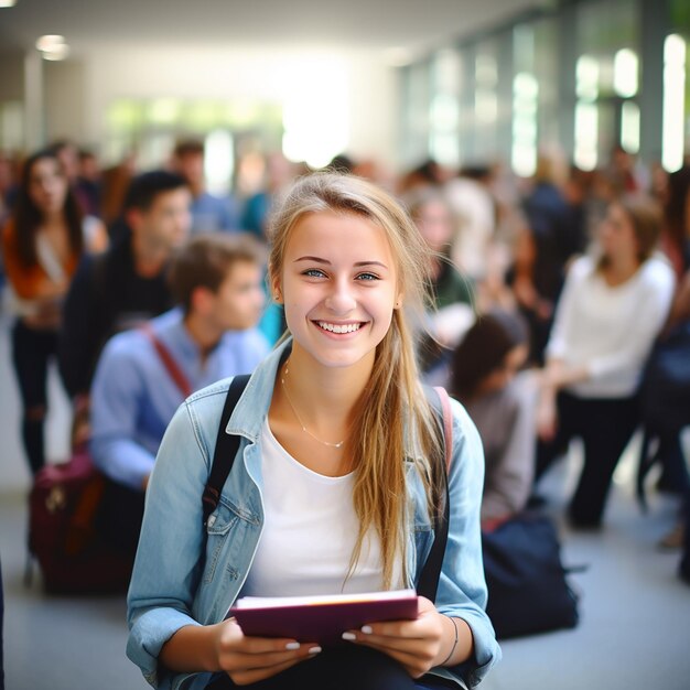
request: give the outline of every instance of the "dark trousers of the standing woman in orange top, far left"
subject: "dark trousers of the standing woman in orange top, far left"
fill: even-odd
[[[12,328],[12,364],[22,398],[22,441],[31,472],[45,464],[44,423],[47,409],[47,367],[57,354],[57,333],[26,327],[18,320]]]

